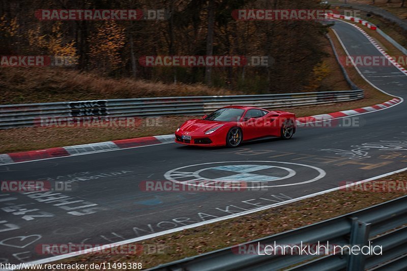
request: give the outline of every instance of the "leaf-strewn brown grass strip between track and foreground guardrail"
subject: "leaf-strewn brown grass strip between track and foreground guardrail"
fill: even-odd
[[[407,172],[404,171],[380,179],[380,181],[383,180],[405,182],[407,181]],[[371,182],[366,185],[366,187],[370,186],[372,186]],[[357,191],[339,190],[277,206],[247,216],[166,234],[135,243],[136,246],[139,245],[144,248],[148,245],[160,245],[164,248],[164,253],[139,253],[138,255],[95,253],[57,262],[66,264],[76,262],[88,264],[100,264],[102,262],[141,262],[143,268],[149,268],[166,262],[307,226],[404,195],[405,191],[373,192],[373,189],[371,191],[361,191],[361,189]]]

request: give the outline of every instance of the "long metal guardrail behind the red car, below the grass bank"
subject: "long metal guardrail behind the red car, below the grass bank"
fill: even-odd
[[[41,118],[131,117],[203,114],[227,105],[266,109],[327,104],[363,98],[363,90],[270,95],[189,96],[0,105],[0,129],[31,127]]]

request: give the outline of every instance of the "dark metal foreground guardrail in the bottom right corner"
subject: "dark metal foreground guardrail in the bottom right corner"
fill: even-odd
[[[382,246],[376,255],[237,254],[236,247],[159,265],[149,270],[405,270],[407,266],[407,196],[323,222],[257,239],[250,244],[321,244]],[[325,254],[325,253],[324,253]],[[315,258],[316,257],[316,258]]]

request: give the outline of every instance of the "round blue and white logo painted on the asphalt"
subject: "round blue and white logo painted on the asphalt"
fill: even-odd
[[[307,184],[325,175],[323,169],[304,164],[279,161],[227,161],[175,168],[167,171],[164,177],[171,182],[190,186],[221,187],[225,182],[244,182],[248,188],[258,188],[258,184],[260,187]]]

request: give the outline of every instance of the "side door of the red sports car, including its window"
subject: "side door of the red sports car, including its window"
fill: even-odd
[[[243,138],[245,140],[263,137],[267,135],[264,128],[264,111],[260,109],[249,109],[242,118]]]

